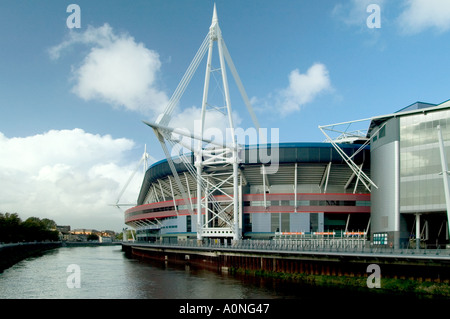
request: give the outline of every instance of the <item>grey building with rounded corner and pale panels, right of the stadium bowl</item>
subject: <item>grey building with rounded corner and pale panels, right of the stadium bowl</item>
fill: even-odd
[[[450,102],[417,102],[373,117],[368,137],[371,177],[378,186],[371,192],[372,236],[385,237],[388,245],[396,247],[417,245],[416,239],[422,247],[445,247],[448,177],[442,172],[450,158]]]

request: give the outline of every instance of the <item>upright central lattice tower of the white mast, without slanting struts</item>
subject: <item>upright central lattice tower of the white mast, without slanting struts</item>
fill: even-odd
[[[208,109],[209,82],[212,70],[212,53],[217,43],[220,72],[223,84],[225,107],[223,110],[228,117],[231,133],[231,148],[204,149],[203,142],[198,141],[195,154],[197,176],[202,176],[206,187],[202,188],[200,180],[197,184],[197,207],[201,207],[204,215],[197,214],[197,238],[202,237],[233,237],[239,239],[239,189],[238,189],[238,152],[234,134],[234,124],[231,111],[230,92],[228,88],[227,72],[224,58],[224,40],[219,27],[216,6],[209,28],[208,59],[206,62],[205,82],[203,89],[202,112],[200,119],[200,136],[204,136],[205,115]],[[216,72],[217,70],[214,70]],[[232,166],[228,171],[218,172],[217,166]],[[207,168],[211,167],[208,172]],[[211,206],[209,200],[214,198],[218,205]]]

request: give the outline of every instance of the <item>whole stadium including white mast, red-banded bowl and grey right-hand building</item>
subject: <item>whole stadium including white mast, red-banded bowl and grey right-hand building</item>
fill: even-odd
[[[211,68],[214,44],[226,101],[221,108],[233,137],[229,143],[208,140],[204,134],[205,114],[212,105],[210,74],[217,71]],[[172,128],[175,106],[206,52],[199,130]],[[416,102],[392,114],[319,126],[325,142],[239,144],[227,66],[260,132],[214,7],[210,30],[165,111],[155,123],[145,122],[166,159],[146,170],[137,205],[125,212],[125,224],[136,230],[136,240],[228,244],[283,236],[357,237],[368,245],[392,248],[448,246],[449,101]],[[190,152],[171,155],[169,147],[177,145]]]

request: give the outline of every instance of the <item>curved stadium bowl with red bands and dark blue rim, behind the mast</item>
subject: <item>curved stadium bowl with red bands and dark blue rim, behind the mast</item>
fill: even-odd
[[[260,152],[263,146],[247,147]],[[264,164],[251,163],[250,156],[239,168],[240,237],[273,238],[279,233],[312,234],[329,231],[365,232],[370,217],[370,194],[329,143],[280,144],[279,167],[264,174]],[[342,145],[352,156],[358,144]],[[354,160],[370,171],[370,152],[365,148]],[[194,161],[191,156],[191,161]],[[125,223],[136,229],[137,240],[177,241],[197,238],[197,193],[195,178],[183,164],[176,167],[187,190],[187,203],[174,181],[167,159],[153,164],[145,174],[138,205],[125,212]],[[223,169],[217,166],[217,169]],[[229,168],[231,170],[231,168]],[[194,215],[189,213],[190,208]],[[203,218],[205,210],[202,211]],[[210,214],[211,215],[211,214]],[[211,228],[220,219],[211,218]],[[216,224],[216,225],[214,225]],[[204,234],[221,238],[220,228]],[[216,232],[216,233],[214,233]]]

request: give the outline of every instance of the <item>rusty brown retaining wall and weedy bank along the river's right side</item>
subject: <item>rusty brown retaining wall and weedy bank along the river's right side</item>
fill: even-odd
[[[204,267],[231,275],[272,278],[315,287],[348,288],[376,295],[450,299],[447,257],[435,254],[399,255],[396,258],[389,254],[347,254],[339,259],[331,253],[305,255],[309,252],[298,252],[296,255],[295,251],[217,247],[124,244],[122,249],[138,259]],[[431,258],[436,261],[430,263]],[[371,266],[378,268],[378,274],[369,270]],[[379,279],[379,284],[373,284],[375,279]]]

